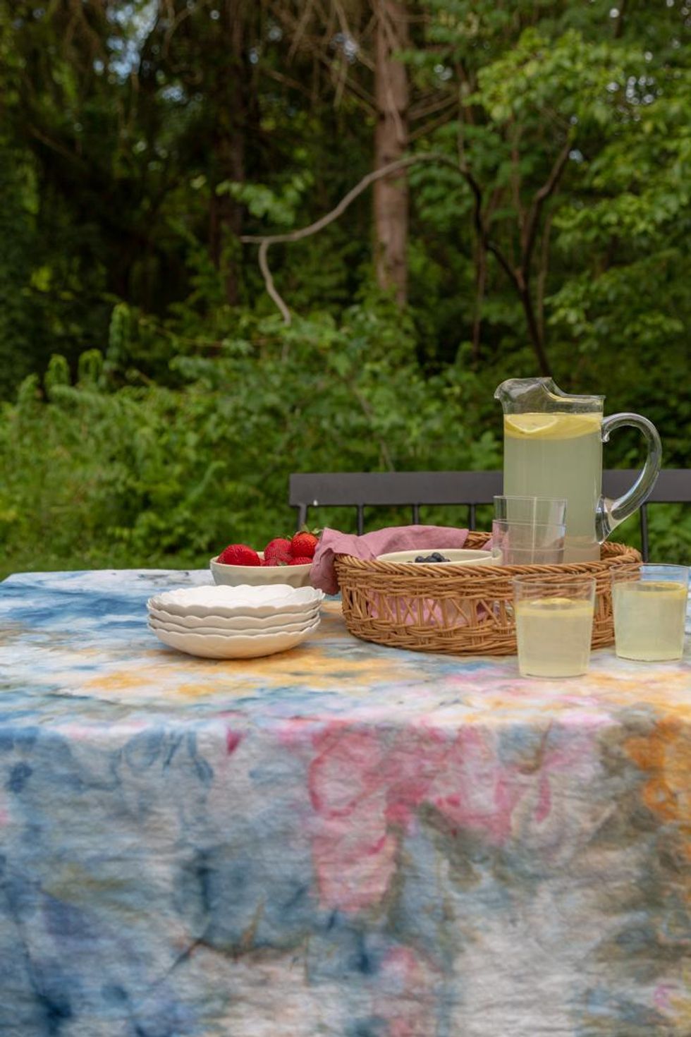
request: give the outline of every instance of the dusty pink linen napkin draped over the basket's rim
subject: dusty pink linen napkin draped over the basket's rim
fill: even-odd
[[[388,526],[363,536],[326,528],[314,554],[310,580],[313,587],[318,587],[325,594],[338,594],[335,555],[373,559],[390,551],[424,552],[438,548],[462,548],[467,535],[467,529],[455,529],[451,526]]]

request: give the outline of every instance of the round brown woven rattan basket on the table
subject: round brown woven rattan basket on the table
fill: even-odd
[[[470,533],[482,548],[489,533]],[[339,555],[336,571],[346,626],[355,637],[392,648],[454,655],[513,655],[512,580],[517,576],[595,577],[593,647],[614,642],[610,572],[640,562],[634,548],[604,543],[599,562],[563,565],[410,565]]]

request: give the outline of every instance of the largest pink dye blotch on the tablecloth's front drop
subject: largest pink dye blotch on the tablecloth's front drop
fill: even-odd
[[[464,728],[449,739],[426,727],[392,732],[337,722],[313,745],[309,789],[320,894],[332,907],[361,910],[384,896],[400,841],[422,804],[434,806],[452,834],[476,832],[502,845],[515,824],[548,820],[551,776],[587,769],[593,739],[584,733],[566,750],[543,745],[503,763],[493,729]],[[528,809],[516,815],[526,793]]]

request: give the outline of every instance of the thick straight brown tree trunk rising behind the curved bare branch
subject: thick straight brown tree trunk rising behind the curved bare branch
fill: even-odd
[[[408,46],[405,0],[377,0],[374,168],[400,159],[408,143],[408,75],[394,58]],[[393,288],[399,306],[407,297],[408,187],[405,175],[374,185],[375,268],[382,288]]]

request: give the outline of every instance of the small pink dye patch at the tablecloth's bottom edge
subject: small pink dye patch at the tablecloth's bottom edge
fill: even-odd
[[[390,951],[381,965],[373,1013],[388,1025],[387,1037],[429,1037],[434,1025],[435,977],[408,947]]]

